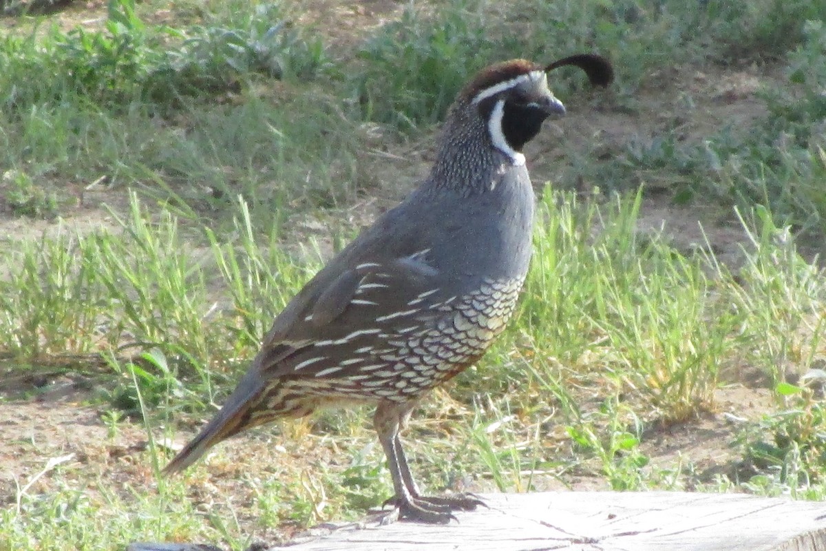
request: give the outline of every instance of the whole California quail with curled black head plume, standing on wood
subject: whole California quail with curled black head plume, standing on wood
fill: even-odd
[[[292,299],[235,392],[165,473],[250,427],[373,402],[396,492],[388,518],[444,523],[450,511],[482,504],[472,496],[422,496],[399,431],[426,392],[482,357],[514,312],[534,216],[521,150],[545,118],[565,112],[546,77],[562,65],[584,69],[591,83],[612,78],[597,55],[545,68],[515,59],[463,88],[430,176]]]

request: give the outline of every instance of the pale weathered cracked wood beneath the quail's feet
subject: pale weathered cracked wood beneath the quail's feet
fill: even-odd
[[[542,492],[483,498],[490,509],[459,512],[458,522],[449,525],[379,526],[368,520],[310,530],[287,549],[826,551],[826,504],[818,502],[683,492]],[[130,551],[150,549],[164,548],[130,546]]]

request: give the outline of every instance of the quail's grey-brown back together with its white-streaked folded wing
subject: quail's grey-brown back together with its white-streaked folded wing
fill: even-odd
[[[439,317],[430,306],[449,300],[454,287],[430,258],[444,230],[411,199],[331,259],[278,315],[253,364],[263,378],[335,373],[359,350]]]

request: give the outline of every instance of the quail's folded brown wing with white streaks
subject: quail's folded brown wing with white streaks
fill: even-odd
[[[276,320],[256,359],[260,373],[343,376],[347,366],[359,367],[358,359],[374,357],[401,335],[430,328],[440,316],[438,306],[450,297],[426,253],[357,264],[325,281],[313,300],[285,311],[292,317],[288,327],[281,328],[281,316]]]

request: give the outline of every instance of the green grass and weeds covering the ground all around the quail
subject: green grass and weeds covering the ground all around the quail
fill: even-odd
[[[553,159],[563,168],[541,194],[519,315],[415,412],[416,473],[434,491],[476,476],[525,492],[586,473],[617,490],[822,499],[826,285],[809,253],[826,235],[826,32],[819,5],[781,3],[733,17],[727,2],[448,0],[342,44],[291,2],[178,2],[174,26],[153,22],[159,3],[126,0],[99,28],[22,18],[0,41],[4,215],[59,229],[3,238],[2,368],[90,381],[84,405],[107,439],[83,444],[113,455],[50,464],[43,443],[21,441],[36,464],[4,496],[0,551],[244,549],[249,534],[381,504],[391,485],[363,408],[257,431],[169,481],[164,438],[220,405],[273,317],[358,231],[365,196],[410,185],[377,176],[398,166],[382,156],[427,150],[488,61],[576,50],[609,55],[618,82],[597,96],[581,75],[554,74],[572,112],[634,117],[656,102],[664,116],[650,138],[596,133]],[[765,114],[686,140],[681,121],[708,101],[674,88],[750,64],[783,80],[759,94]],[[112,200],[108,226],[59,220],[96,190]],[[738,264],[714,243],[639,230],[655,193],[727,213],[746,236]],[[308,238],[307,218],[330,227]],[[708,479],[657,466],[649,435],[717,412],[743,371],[774,404],[733,437],[747,468]],[[149,444],[124,452],[135,433]]]

